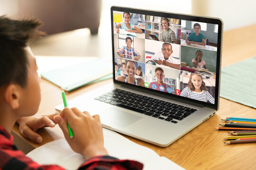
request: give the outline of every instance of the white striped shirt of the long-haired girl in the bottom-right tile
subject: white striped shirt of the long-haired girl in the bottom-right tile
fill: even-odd
[[[210,95],[210,93],[208,91],[202,90],[201,92],[198,93],[198,92],[194,92],[194,91],[190,90],[188,87],[185,87],[183,89],[180,96],[199,100],[202,102],[209,101],[212,104],[214,104],[214,102],[215,102],[215,99]]]

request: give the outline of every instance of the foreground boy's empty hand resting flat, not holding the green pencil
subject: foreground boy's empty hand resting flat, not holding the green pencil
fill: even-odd
[[[58,114],[59,113],[55,113],[48,116],[34,115],[19,118],[17,120],[17,123],[19,124],[19,131],[23,136],[40,144],[43,141],[43,138],[36,133],[37,129],[42,127],[55,127],[53,118]]]

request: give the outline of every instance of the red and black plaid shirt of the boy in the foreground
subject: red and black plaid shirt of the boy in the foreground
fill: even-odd
[[[142,170],[137,161],[119,160],[111,156],[96,156],[86,160],[79,170]],[[38,165],[13,144],[11,136],[0,126],[0,170],[64,170],[57,165]]]

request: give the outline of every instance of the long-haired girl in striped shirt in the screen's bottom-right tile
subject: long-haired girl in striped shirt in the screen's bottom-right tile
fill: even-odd
[[[212,104],[215,102],[215,99],[207,91],[202,76],[197,74],[190,75],[188,86],[183,89],[181,96]]]

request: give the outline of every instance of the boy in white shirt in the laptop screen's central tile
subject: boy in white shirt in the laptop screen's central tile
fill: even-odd
[[[180,69],[180,60],[174,59],[171,54],[173,53],[172,45],[168,42],[164,42],[162,45],[162,51],[156,52],[152,59],[160,65],[169,66],[171,68]]]

